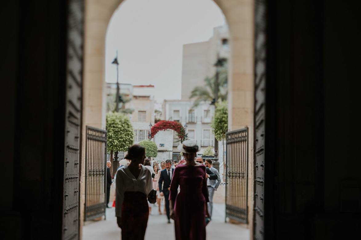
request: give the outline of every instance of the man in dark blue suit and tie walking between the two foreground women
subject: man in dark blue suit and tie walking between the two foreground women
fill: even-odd
[[[165,169],[160,172],[160,177],[158,180],[159,192],[161,196],[164,196],[165,199],[165,211],[168,217],[168,223],[170,223],[169,216],[169,188],[170,182],[172,180],[174,168],[172,168],[172,160],[165,160]],[[163,184],[164,182],[164,184]],[[163,184],[163,188],[162,188]]]

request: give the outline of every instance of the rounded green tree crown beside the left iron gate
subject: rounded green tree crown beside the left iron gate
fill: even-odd
[[[128,151],[134,144],[134,131],[129,118],[122,113],[106,114],[106,130],[108,131],[108,153]]]

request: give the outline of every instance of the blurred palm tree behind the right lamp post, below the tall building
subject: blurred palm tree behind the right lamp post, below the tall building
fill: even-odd
[[[223,68],[218,73],[218,99],[216,102],[227,100],[227,64],[224,63]],[[214,99],[214,87],[216,85],[216,75],[204,79],[205,85],[201,87],[195,87],[190,98],[195,98],[192,109],[196,108],[202,101],[212,101]]]

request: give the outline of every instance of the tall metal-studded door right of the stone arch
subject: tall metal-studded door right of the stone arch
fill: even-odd
[[[265,96],[266,96],[266,3],[255,5],[255,119],[253,237],[264,239]],[[267,200],[267,199],[265,199]]]

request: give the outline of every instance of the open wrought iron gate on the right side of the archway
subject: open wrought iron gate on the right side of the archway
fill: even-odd
[[[226,217],[248,222],[248,128],[226,133]]]

